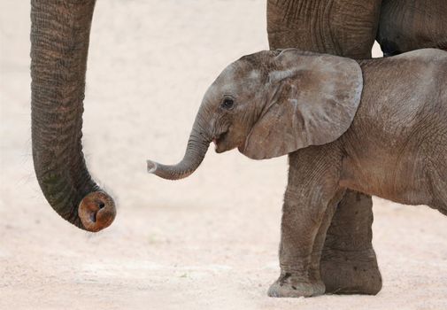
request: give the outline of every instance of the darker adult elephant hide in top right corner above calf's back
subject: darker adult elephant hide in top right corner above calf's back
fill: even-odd
[[[384,0],[377,41],[385,56],[410,50],[447,50],[447,1]]]

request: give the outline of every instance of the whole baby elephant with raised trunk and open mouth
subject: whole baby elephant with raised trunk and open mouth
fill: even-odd
[[[301,50],[244,56],[207,90],[181,162],[148,161],[166,179],[193,173],[209,143],[250,159],[289,154],[274,297],[325,292],[320,256],[346,189],[447,214],[447,52],[351,60]]]

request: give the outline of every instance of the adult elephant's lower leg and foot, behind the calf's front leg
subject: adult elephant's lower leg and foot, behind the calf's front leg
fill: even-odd
[[[372,244],[373,200],[347,190],[328,229],[320,260],[327,293],[369,294],[381,291],[381,272]]]

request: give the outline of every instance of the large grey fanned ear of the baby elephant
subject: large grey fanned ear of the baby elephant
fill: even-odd
[[[268,75],[267,103],[243,154],[270,159],[335,141],[351,126],[363,78],[355,60],[282,50]]]

